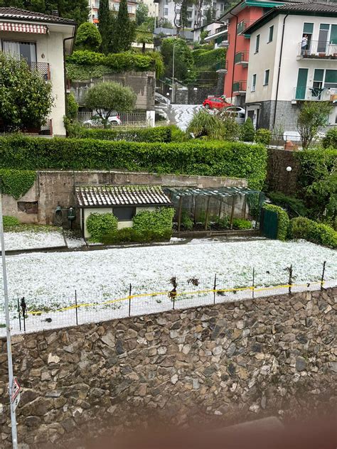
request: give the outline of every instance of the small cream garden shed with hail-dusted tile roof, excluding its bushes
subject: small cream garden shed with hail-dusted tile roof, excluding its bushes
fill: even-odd
[[[90,237],[87,218],[94,212],[112,212],[118,219],[118,229],[122,229],[132,227],[132,219],[138,212],[172,206],[160,185],[77,185],[75,197],[85,238]]]

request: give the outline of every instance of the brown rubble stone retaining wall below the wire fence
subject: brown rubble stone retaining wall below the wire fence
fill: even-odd
[[[83,432],[149,416],[168,426],[322,418],[333,406],[336,300],[330,288],[16,335],[21,447],[75,449]],[[7,382],[0,340],[1,448],[11,447]]]

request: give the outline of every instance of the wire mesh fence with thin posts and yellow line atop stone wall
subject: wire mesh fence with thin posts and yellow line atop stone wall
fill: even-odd
[[[63,328],[85,323],[99,323],[105,320],[126,318],[136,315],[160,313],[172,309],[184,309],[202,305],[218,304],[245,299],[255,300],[264,296],[292,294],[299,291],[323,289],[326,262],[323,263],[317,281],[296,283],[292,266],[284,269],[284,283],[270,274],[269,286],[264,286],[265,278],[252,270],[252,281],[248,286],[226,286],[225,276],[217,274],[205,277],[168,278],[159,291],[149,291],[151,285],[124,283],[117,291],[117,297],[108,288],[79,293],[74,290],[69,296],[59,298],[58,304],[33,298],[12,298],[10,301],[11,331],[16,333],[35,332]],[[268,272],[267,272],[268,274]],[[265,274],[264,274],[265,276]],[[282,276],[283,277],[283,276]],[[277,281],[277,282],[275,282]],[[153,281],[155,287],[155,281]],[[0,305],[0,335],[5,335],[4,304]]]

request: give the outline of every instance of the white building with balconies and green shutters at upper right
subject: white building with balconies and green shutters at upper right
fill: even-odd
[[[333,104],[337,124],[337,5],[286,4],[245,31],[250,37],[247,115],[257,127],[296,129],[304,101]]]

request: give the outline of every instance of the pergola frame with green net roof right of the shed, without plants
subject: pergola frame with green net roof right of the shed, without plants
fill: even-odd
[[[208,229],[211,212],[215,212],[217,217],[221,217],[228,210],[230,217],[230,229],[232,229],[232,222],[235,215],[240,215],[240,218],[247,217],[247,208],[250,212],[252,203],[255,202],[257,207],[257,218],[260,215],[260,207],[264,201],[264,193],[260,190],[252,190],[244,187],[219,187],[219,188],[164,188],[164,191],[169,195],[171,202],[177,211],[178,232],[181,230],[181,214],[183,210],[189,210],[193,220],[197,222],[197,208],[198,202],[203,201],[205,211],[205,230]],[[248,207],[247,207],[248,206]],[[235,214],[235,210],[239,211]]]

